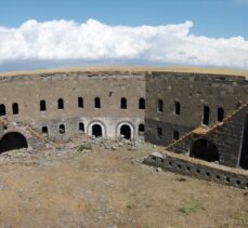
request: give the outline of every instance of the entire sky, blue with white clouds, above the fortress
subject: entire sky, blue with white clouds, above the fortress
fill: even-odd
[[[2,27],[2,30],[0,30],[0,55],[13,56],[2,57],[2,59],[0,57],[0,70],[16,69],[16,66],[17,68],[52,67],[57,66],[58,62],[65,64],[66,61],[69,64],[95,61],[103,64],[152,63],[155,65],[177,64],[177,61],[179,61],[179,64],[183,65],[248,68],[248,0],[2,0],[0,5],[0,27]],[[91,21],[89,23],[90,18],[93,19],[93,23]],[[27,23],[30,19],[35,19],[36,23]],[[65,22],[62,23],[61,19]],[[44,24],[51,21],[57,23],[53,25]],[[68,25],[69,21],[74,21],[77,25]],[[191,22],[192,25],[186,22]],[[81,28],[81,24],[87,26]],[[147,35],[144,30],[140,31],[143,29],[141,25],[151,27]],[[175,43],[171,42],[171,37],[168,35],[170,28],[165,28],[164,31],[159,28],[159,26],[167,25],[177,26],[171,31],[171,33],[174,32],[173,36],[179,38]],[[105,26],[108,26],[108,28],[106,29]],[[116,26],[126,26],[129,33],[127,35],[127,29],[121,30]],[[47,33],[43,33],[47,27],[50,30],[45,30]],[[12,28],[15,28],[15,31]],[[60,33],[53,33],[58,28],[62,35],[61,38]],[[66,32],[76,32],[79,29],[81,29],[79,32],[81,43],[73,38],[64,40]],[[90,32],[92,29],[95,35]],[[140,35],[136,36],[133,29],[138,30]],[[151,29],[154,30],[151,31]],[[38,35],[37,30],[39,30]],[[179,30],[184,33],[179,33]],[[91,43],[91,40],[89,41],[88,38],[83,37],[84,31],[90,32],[91,40],[95,40],[95,43]],[[76,33],[78,35],[78,32]],[[108,40],[104,40],[100,45],[102,41],[95,38],[96,33],[103,37],[107,33],[106,39]],[[114,33],[114,36],[109,37],[109,33]],[[22,36],[22,39],[19,36]],[[49,36],[52,38],[49,38]],[[192,36],[196,36],[196,38],[192,38]],[[40,37],[47,37],[42,44],[40,44]],[[121,39],[121,37],[125,38]],[[234,37],[240,37],[242,39],[233,39]],[[211,40],[211,38],[218,40]],[[221,40],[222,38],[224,40]],[[48,41],[48,39],[50,40]],[[127,42],[130,40],[132,40],[132,45],[130,44],[127,48]],[[196,44],[201,42],[205,44],[205,50],[209,54],[199,57],[198,55],[203,50],[199,50]],[[16,44],[18,42],[19,45]],[[121,49],[115,48],[118,42],[122,43]],[[80,50],[80,54],[77,55],[66,54],[64,53],[65,46],[62,48],[61,43],[64,43],[64,45],[66,43],[67,50],[73,50],[73,43],[78,45],[74,45],[76,51],[81,45],[88,45],[88,49],[87,51]],[[158,48],[154,48],[154,43],[159,43],[157,45],[175,45],[177,52],[172,53],[170,49],[165,49],[161,52]],[[187,50],[183,46],[184,43],[188,48]],[[190,45],[191,43],[194,43],[194,45]],[[13,48],[15,44],[21,49],[23,48],[22,53],[19,50],[16,50],[17,53],[15,52]],[[108,51],[112,50],[112,52],[107,53],[104,49],[106,45]],[[222,45],[221,49],[213,53],[213,48],[220,45]],[[64,55],[61,58],[60,53],[52,55],[51,53],[44,54],[44,51],[35,55],[31,53],[30,46],[35,46],[34,49],[37,50],[61,49],[58,51]],[[136,49],[135,53],[131,51],[123,53],[125,46],[127,50]],[[90,55],[90,48],[92,48],[92,52],[102,54]],[[190,53],[190,50],[195,51],[195,53]],[[112,53],[117,54],[112,55]],[[232,53],[239,56],[238,61],[243,64],[235,64],[231,56]],[[221,64],[214,64],[210,61],[211,55],[220,61],[222,55],[227,54],[230,56]],[[54,64],[48,64],[49,62]],[[230,63],[234,64],[230,65]]]

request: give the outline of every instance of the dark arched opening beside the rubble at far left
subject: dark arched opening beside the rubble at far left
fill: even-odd
[[[27,139],[18,132],[9,132],[0,140],[0,153],[27,147]]]

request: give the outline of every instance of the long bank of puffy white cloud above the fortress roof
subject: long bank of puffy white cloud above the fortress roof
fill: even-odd
[[[192,33],[192,22],[165,26],[108,26],[89,19],[0,27],[0,63],[14,61],[142,61],[248,68],[243,37],[208,38]]]

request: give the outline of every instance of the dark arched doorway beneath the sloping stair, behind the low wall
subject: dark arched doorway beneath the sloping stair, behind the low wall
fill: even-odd
[[[193,143],[191,157],[209,162],[219,161],[219,150],[211,142],[200,138]]]

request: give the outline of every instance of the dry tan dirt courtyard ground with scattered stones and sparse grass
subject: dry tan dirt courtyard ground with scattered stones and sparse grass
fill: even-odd
[[[248,227],[248,192],[138,162],[156,149],[95,145],[2,159],[0,227]]]

